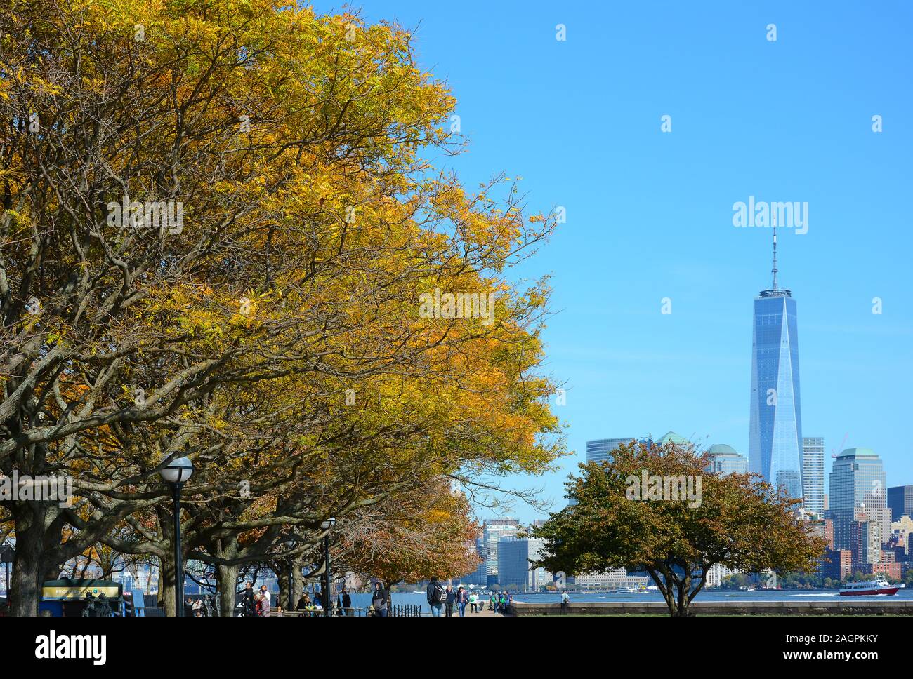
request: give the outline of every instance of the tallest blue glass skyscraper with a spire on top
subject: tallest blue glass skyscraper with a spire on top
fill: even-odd
[[[754,300],[751,338],[749,467],[792,498],[803,493],[799,336],[792,291],[777,287],[777,228],[773,227],[773,285]]]

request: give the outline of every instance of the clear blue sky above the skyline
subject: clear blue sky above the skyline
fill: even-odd
[[[808,231],[779,238],[803,435],[823,436],[828,456],[846,435],[885,460],[888,485],[913,483],[913,5],[360,6],[417,28],[421,65],[458,99],[467,186],[503,170],[530,209],[567,210],[523,273],[552,275],[546,368],[567,383],[556,412],[575,454],[517,483],[560,509],[600,437],[671,429],[747,456],[751,304],[771,276],[771,230],[732,225],[749,196],[809,203]]]

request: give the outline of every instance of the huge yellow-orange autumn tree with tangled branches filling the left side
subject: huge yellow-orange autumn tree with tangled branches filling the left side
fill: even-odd
[[[77,494],[5,503],[16,614],[97,545],[167,587],[178,456],[185,556],[231,581],[327,516],[561,454],[548,288],[505,275],[554,220],[423,157],[461,140],[413,49],[271,0],[0,8],[0,472]],[[439,290],[485,314],[422,314]]]

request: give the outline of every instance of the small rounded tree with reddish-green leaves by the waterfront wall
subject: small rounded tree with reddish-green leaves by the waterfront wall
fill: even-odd
[[[755,476],[720,476],[706,465],[687,446],[635,441],[614,450],[611,462],[581,465],[567,484],[575,502],[536,530],[546,550],[539,565],[569,574],[646,571],[676,616],[690,614],[716,564],[745,572],[815,567],[824,540],[798,517],[799,500]]]

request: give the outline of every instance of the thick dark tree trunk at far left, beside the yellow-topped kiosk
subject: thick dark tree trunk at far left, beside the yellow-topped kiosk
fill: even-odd
[[[40,502],[16,502],[13,513],[16,526],[16,558],[10,581],[10,614],[35,617],[44,565],[41,555],[45,543],[47,506]]]

